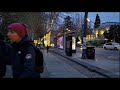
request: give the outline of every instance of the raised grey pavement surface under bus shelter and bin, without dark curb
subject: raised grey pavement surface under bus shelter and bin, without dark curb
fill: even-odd
[[[65,57],[69,57],[69,56],[66,56],[63,50],[59,50],[56,48],[53,48],[51,50]],[[80,52],[76,52],[76,53],[73,53],[72,56],[69,58],[71,58],[74,61],[80,61],[81,63],[83,62],[86,65],[88,64],[91,66],[98,67],[101,70],[108,71],[110,73],[113,73],[113,75],[117,75],[118,77],[120,77],[120,63],[119,62],[112,61],[112,60],[81,59],[81,56],[82,55]]]

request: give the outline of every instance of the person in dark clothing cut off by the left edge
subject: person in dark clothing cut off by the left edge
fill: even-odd
[[[6,73],[6,65],[9,59],[7,43],[4,41],[4,35],[0,33],[0,78],[3,78]]]

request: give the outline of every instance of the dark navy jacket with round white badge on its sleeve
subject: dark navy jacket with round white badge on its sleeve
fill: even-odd
[[[19,43],[12,43],[11,64],[14,78],[39,78],[35,71],[35,51],[33,46],[23,47],[32,40],[26,36]]]

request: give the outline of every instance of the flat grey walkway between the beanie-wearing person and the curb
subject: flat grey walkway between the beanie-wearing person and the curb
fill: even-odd
[[[43,78],[87,78],[69,64],[60,60],[46,50],[41,50],[44,54],[45,72],[41,74]]]

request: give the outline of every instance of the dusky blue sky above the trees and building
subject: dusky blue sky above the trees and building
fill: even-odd
[[[80,15],[82,15],[82,17],[84,17],[85,12],[70,12],[70,13],[63,12],[61,23],[63,23],[64,21],[63,17],[66,17],[67,15],[74,17],[76,13],[79,13]],[[105,22],[120,22],[120,12],[88,12],[88,18],[92,21],[91,23],[92,27],[94,26],[96,14],[99,15],[101,24]]]

